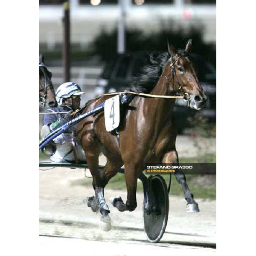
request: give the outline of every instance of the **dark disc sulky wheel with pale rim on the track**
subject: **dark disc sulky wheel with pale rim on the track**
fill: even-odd
[[[160,175],[149,177],[148,201],[150,212],[143,203],[144,230],[148,241],[157,243],[165,232],[169,213],[169,193],[166,182]]]

